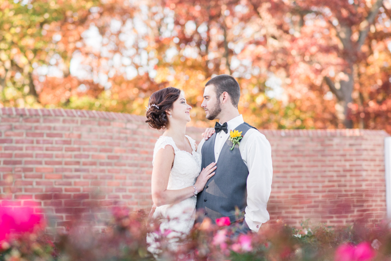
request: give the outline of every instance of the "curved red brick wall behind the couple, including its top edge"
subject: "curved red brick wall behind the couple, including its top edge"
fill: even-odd
[[[161,132],[144,117],[87,110],[0,109],[1,205],[57,218],[101,205],[149,208],[152,152]],[[203,129],[188,128],[200,140]],[[386,215],[384,131],[261,130],[272,146],[271,222],[329,225]],[[18,199],[18,200],[15,200]],[[37,208],[38,210],[38,208]]]

